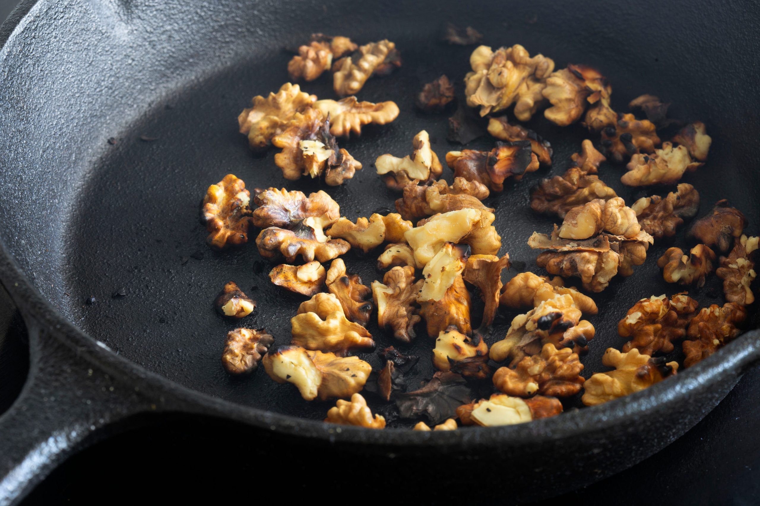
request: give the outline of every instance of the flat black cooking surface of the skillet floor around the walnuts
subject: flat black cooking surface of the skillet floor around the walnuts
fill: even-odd
[[[700,115],[699,104],[689,103],[689,90],[673,89],[667,82],[657,81],[654,74],[641,75],[630,71],[620,59],[600,49],[599,55],[578,53],[560,40],[537,36],[530,24],[506,33],[476,26],[486,34],[483,41],[495,48],[523,44],[531,54],[543,52],[556,61],[557,68],[568,62],[596,65],[610,77],[613,84],[613,109],[625,111],[625,104],[641,93],[656,93],[673,103],[672,117],[686,120],[701,119],[713,137],[710,159],[682,179],[695,185],[701,194],[700,215],[707,212],[719,198],[730,198],[739,209],[751,209],[751,185],[737,188],[735,179],[716,178],[732,163],[730,139],[724,138],[710,118]],[[318,27],[314,27],[318,31]],[[377,31],[377,30],[375,30]],[[90,171],[81,188],[81,200],[74,217],[65,230],[64,244],[68,251],[65,267],[64,311],[90,336],[103,341],[120,355],[144,367],[206,394],[236,403],[274,410],[293,416],[312,419],[325,417],[334,400],[307,403],[296,387],[277,384],[263,368],[249,378],[230,378],[220,363],[226,332],[238,326],[266,327],[276,344],[290,342],[290,318],[299,302],[306,297],[272,286],[268,272],[274,264],[261,259],[254,239],[258,230],[252,229],[249,243],[233,251],[212,251],[204,244],[207,235],[198,222],[201,198],[208,185],[220,181],[227,173],[245,180],[246,187],[286,187],[304,192],[325,189],[340,204],[344,216],[369,216],[381,208],[393,208],[398,197],[385,188],[375,174],[373,162],[383,153],[404,156],[410,153],[413,135],[421,129],[429,131],[432,147],[443,160],[448,150],[460,149],[446,141],[447,118],[453,110],[442,114],[425,115],[413,106],[413,95],[422,85],[445,73],[461,96],[462,77],[469,70],[469,55],[475,46],[448,46],[437,40],[420,39],[398,27],[383,31],[401,50],[404,65],[385,78],[372,78],[358,93],[359,100],[378,102],[394,100],[401,109],[398,119],[390,125],[370,125],[363,128],[362,138],[340,141],[363,170],[339,187],[326,187],[302,179],[286,182],[274,165],[271,149],[266,156],[257,157],[249,151],[245,136],[237,131],[236,116],[248,106],[251,97],[276,91],[287,81],[287,52],[271,52],[253,61],[239,62],[214,77],[193,82],[176,90],[163,103],[157,104],[144,119],[125,131],[114,131],[116,144]],[[343,33],[340,33],[343,34]],[[358,43],[369,40],[363,33],[346,33]],[[309,33],[302,36],[308,38]],[[652,61],[658,55],[641,55]],[[672,86],[672,85],[671,85]],[[315,82],[302,84],[302,89],[319,98],[336,98],[331,77],[323,75]],[[139,100],[139,95],[135,96]],[[505,183],[505,191],[492,193],[486,201],[496,207],[494,223],[502,236],[502,251],[508,251],[513,264],[525,263],[527,270],[544,274],[535,267],[536,251],[525,245],[534,230],[550,232],[552,220],[537,216],[528,206],[528,191],[541,178],[562,174],[570,164],[570,155],[580,150],[587,131],[580,125],[559,128],[543,119],[542,112],[527,124],[551,142],[554,164],[547,169],[528,174],[521,182]],[[141,137],[143,137],[141,139]],[[155,140],[144,140],[154,138]],[[597,136],[592,136],[597,141]],[[664,139],[667,140],[667,139]],[[486,136],[467,147],[489,149],[494,139]],[[632,204],[644,195],[667,194],[674,188],[626,188],[619,182],[624,166],[604,164],[600,178]],[[451,182],[451,171],[444,169],[443,178]],[[755,217],[748,213],[747,232],[757,234]],[[610,287],[600,294],[591,294],[599,306],[599,314],[586,317],[596,327],[597,334],[590,351],[581,356],[584,373],[605,370],[600,364],[608,346],[619,347],[625,339],[619,337],[616,325],[628,308],[638,299],[666,293],[672,295],[682,287],[664,283],[657,258],[670,245],[687,247],[682,239],[682,226],[675,240],[663,239],[648,251],[646,264],[635,268],[629,278],[615,277]],[[344,255],[350,273],[358,273],[365,284],[381,279],[375,270],[375,259],[382,247],[371,251],[366,258],[353,251]],[[516,274],[514,268],[505,272],[505,280]],[[255,316],[242,321],[228,321],[214,312],[214,296],[224,283],[233,280],[258,302]],[[580,284],[570,280],[568,285]],[[126,295],[112,298],[121,288]],[[254,288],[255,287],[255,288]],[[701,306],[722,304],[720,280],[711,275],[707,285],[690,293]],[[86,305],[94,296],[97,302]],[[473,299],[474,300],[474,299]],[[504,337],[511,318],[518,312],[503,311],[497,318],[492,334],[486,337],[489,345]],[[411,345],[395,342],[377,328],[373,313],[369,330],[378,349],[393,344],[404,353],[420,355],[416,376],[410,381],[413,389],[418,381],[429,378],[433,371],[430,362],[432,339],[422,329]],[[480,318],[480,307],[473,308],[473,322]],[[757,325],[756,315],[750,318]],[[679,349],[679,346],[676,346]],[[677,353],[677,352],[676,352]],[[380,365],[375,353],[359,354],[373,367]],[[490,381],[484,385],[490,387]],[[367,400],[373,411],[384,403],[372,394]],[[568,400],[566,407],[579,405],[578,399]],[[382,413],[382,410],[380,410]]]

